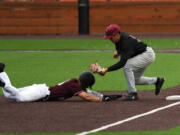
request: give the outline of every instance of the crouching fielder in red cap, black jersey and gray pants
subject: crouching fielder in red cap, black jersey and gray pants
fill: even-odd
[[[158,95],[164,78],[143,76],[146,68],[155,60],[153,49],[132,35],[120,31],[120,27],[116,24],[106,28],[104,38],[115,44],[116,51],[113,58],[120,56],[120,61],[108,68],[101,68],[98,63],[93,63],[90,66],[91,71],[104,76],[107,72],[123,68],[129,90],[125,98],[127,101],[138,100],[135,85],[155,84],[155,95]]]

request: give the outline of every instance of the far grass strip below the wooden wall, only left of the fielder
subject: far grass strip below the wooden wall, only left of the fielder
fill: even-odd
[[[112,49],[108,40],[0,40],[0,50]],[[111,44],[111,43],[110,43]]]

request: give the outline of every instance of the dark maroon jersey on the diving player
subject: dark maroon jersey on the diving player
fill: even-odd
[[[78,83],[78,79],[73,78],[59,85],[52,86],[49,90],[51,92],[49,100],[64,100],[78,95],[82,88]]]

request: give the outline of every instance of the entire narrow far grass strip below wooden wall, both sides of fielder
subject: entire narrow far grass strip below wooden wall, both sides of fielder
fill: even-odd
[[[180,39],[143,39],[153,49],[180,48]],[[104,39],[0,40],[0,50],[114,49]]]

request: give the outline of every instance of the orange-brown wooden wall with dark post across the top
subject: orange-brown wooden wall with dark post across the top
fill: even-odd
[[[1,35],[180,32],[180,0],[0,0]]]

